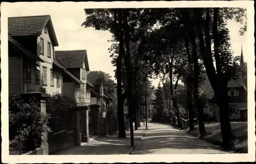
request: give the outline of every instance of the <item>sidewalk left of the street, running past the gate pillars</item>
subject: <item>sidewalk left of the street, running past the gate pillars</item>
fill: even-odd
[[[134,130],[134,144],[139,143],[142,136],[146,131],[143,122],[140,123],[141,127]],[[130,146],[130,131],[126,131],[126,138],[118,138],[118,133],[115,132],[111,136],[99,136],[93,141],[82,146],[74,146],[65,150],[58,151],[53,155],[117,155],[129,154],[133,147]]]

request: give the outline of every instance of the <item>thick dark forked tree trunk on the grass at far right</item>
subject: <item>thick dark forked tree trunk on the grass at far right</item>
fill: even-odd
[[[200,53],[220,110],[223,146],[227,146],[230,143],[229,141],[233,140],[229,113],[226,110],[228,108],[227,83],[230,78],[235,77],[237,64],[229,49],[229,31],[225,27],[226,20],[223,11],[219,8],[213,10],[209,8],[194,9],[193,18],[196,21]],[[212,19],[213,22],[210,23]],[[210,28],[212,28],[212,37],[214,38],[213,55]],[[215,59],[216,69],[212,56]]]

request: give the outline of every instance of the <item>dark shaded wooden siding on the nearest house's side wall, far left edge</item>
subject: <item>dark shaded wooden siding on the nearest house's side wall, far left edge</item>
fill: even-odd
[[[22,57],[8,57],[9,96],[23,93],[23,63]]]

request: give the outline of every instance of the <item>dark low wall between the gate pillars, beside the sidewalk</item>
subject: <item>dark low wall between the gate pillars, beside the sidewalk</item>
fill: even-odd
[[[62,129],[48,134],[49,154],[75,145],[75,132]]]

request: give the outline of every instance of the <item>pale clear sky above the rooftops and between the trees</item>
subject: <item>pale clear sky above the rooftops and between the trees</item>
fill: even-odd
[[[84,8],[87,6],[73,3],[67,8],[63,3],[11,3],[8,7],[8,17],[51,15],[54,30],[59,46],[55,50],[86,49],[91,71],[101,70],[109,73],[114,79],[115,67],[111,64],[108,48],[111,43],[111,34],[108,31],[96,31],[93,28],[84,28],[81,24],[86,20]],[[230,42],[234,56],[240,56],[243,45],[244,61],[249,60],[247,52],[246,33],[239,35],[241,24],[228,21],[227,28],[230,30]],[[159,79],[153,80],[157,87]]]

